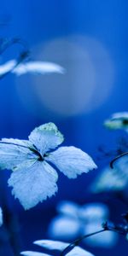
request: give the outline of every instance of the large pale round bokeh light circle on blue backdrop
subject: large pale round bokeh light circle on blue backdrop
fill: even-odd
[[[61,116],[88,113],[99,108],[112,93],[113,61],[96,38],[55,38],[32,52],[35,60],[52,61],[66,68],[63,75],[31,74],[18,78],[21,101],[32,112],[42,115],[45,108]]]

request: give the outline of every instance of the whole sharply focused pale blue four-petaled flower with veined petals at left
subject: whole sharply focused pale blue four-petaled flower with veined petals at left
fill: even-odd
[[[53,123],[35,128],[29,140],[6,139],[0,141],[0,168],[14,171],[9,178],[12,193],[25,209],[29,209],[55,195],[58,174],[54,164],[69,178],[96,168],[90,156],[75,147],[61,147],[61,132]]]

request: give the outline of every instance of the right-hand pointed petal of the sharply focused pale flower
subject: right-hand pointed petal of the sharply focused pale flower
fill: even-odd
[[[58,148],[50,153],[45,160],[49,160],[69,178],[75,178],[83,172],[87,173],[97,167],[89,154],[75,147]]]

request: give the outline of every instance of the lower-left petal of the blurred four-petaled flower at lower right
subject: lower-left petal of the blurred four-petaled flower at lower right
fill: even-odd
[[[54,239],[69,241],[75,239],[80,234],[80,221],[76,218],[59,216],[53,218],[49,224],[49,236]]]

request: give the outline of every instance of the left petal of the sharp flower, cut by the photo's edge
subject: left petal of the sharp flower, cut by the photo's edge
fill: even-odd
[[[0,168],[13,170],[23,161],[38,159],[30,149],[32,147],[29,141],[3,138],[0,141]]]

